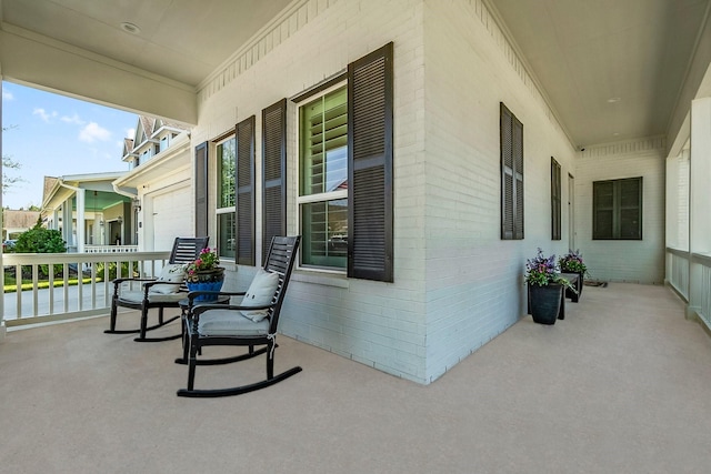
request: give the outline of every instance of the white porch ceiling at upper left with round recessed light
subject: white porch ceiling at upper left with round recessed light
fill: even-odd
[[[0,0],[0,20],[194,87],[290,2]]]

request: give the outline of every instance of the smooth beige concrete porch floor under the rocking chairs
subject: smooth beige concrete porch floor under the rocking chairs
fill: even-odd
[[[180,341],[137,343],[103,334],[107,326],[98,317],[8,332],[1,473],[711,466],[711,337],[663,286],[587,286],[564,321],[543,326],[525,316],[429,386],[281,336],[277,370],[303,372],[237,397],[179,399]],[[262,373],[263,357],[198,367],[197,385]]]

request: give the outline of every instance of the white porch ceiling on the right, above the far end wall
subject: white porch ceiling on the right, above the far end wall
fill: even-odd
[[[709,0],[491,0],[574,144],[664,135]]]

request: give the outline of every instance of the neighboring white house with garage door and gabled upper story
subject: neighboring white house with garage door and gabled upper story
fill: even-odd
[[[133,241],[139,250],[170,250],[176,236],[192,235],[191,155],[189,131],[160,119],[140,115],[134,137],[124,140],[130,171],[113,185],[137,193]]]

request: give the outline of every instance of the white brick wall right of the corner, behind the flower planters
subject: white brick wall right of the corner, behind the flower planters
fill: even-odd
[[[480,1],[430,1],[425,43],[427,364],[434,380],[524,313],[525,259],[551,241],[550,159],[574,152]],[[499,103],[523,123],[523,241],[500,239]],[[562,183],[563,200],[568,190]]]

